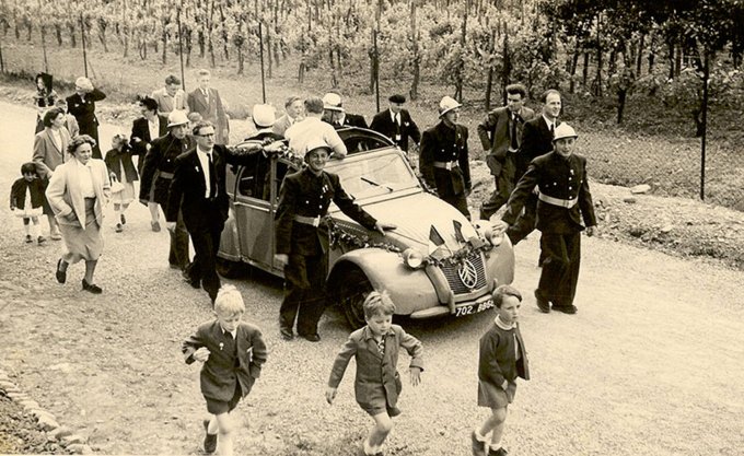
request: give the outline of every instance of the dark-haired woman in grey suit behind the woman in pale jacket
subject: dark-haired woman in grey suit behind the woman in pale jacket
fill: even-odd
[[[44,114],[44,131],[39,131],[34,137],[33,162],[36,165],[36,174],[44,182],[44,186],[49,183],[54,171],[68,160],[67,147],[70,143],[70,133],[65,128],[66,116],[61,108],[53,107]],[[48,201],[44,201],[44,213],[49,220],[49,237],[59,241],[57,220]]]

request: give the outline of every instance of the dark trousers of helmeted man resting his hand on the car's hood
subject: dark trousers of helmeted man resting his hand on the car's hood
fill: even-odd
[[[279,308],[279,326],[292,329],[298,320],[298,334],[317,334],[317,323],[326,305],[325,254],[290,255],[284,267],[284,301]]]

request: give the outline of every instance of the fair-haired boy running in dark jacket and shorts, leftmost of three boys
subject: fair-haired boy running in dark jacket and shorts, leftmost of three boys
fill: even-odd
[[[243,297],[233,285],[223,285],[214,300],[217,318],[200,325],[183,342],[186,364],[201,366],[201,394],[207,400],[209,420],[204,420],[205,453],[232,456],[234,424],[230,412],[251,393],[266,362],[266,343],[260,329],[241,321]],[[218,439],[219,433],[219,439]]]

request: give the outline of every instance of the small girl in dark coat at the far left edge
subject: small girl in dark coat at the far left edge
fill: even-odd
[[[34,163],[24,163],[21,166],[21,174],[23,177],[15,180],[10,189],[10,210],[15,217],[23,219],[26,244],[34,242],[33,231],[36,242],[42,245],[46,242],[46,238],[38,232],[38,218],[44,211],[44,202],[46,201],[44,183],[36,174]]]

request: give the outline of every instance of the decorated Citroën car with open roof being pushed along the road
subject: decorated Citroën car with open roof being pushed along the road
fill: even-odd
[[[385,291],[396,314],[410,318],[461,317],[493,306],[490,294],[511,283],[514,254],[509,238],[487,221],[470,223],[426,191],[405,153],[371,130],[339,130],[350,153],[326,171],[380,221],[397,225],[385,236],[351,221],[332,203],[324,221],[329,234],[327,290],[353,327],[364,324],[362,302]],[[236,150],[245,143],[236,145]],[[275,261],[274,217],[287,173],[302,162],[291,152],[256,154],[249,165],[230,166],[230,218],[220,243],[221,272],[245,264],[281,277]]]

